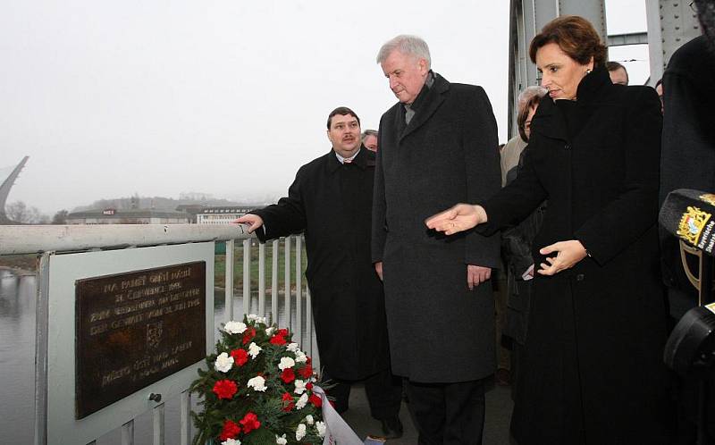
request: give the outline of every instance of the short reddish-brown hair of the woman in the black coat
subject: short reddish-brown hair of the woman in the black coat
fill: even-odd
[[[606,63],[606,46],[601,43],[601,37],[593,29],[590,21],[577,15],[563,15],[546,23],[529,45],[529,57],[536,63],[536,52],[544,45],[555,43],[561,51],[585,65],[593,57],[593,66],[603,66]]]

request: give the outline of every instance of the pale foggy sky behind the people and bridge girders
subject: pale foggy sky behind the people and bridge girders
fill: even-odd
[[[395,102],[374,57],[425,38],[433,69],[481,85],[507,139],[508,0],[10,1],[0,4],[0,167],[30,159],[9,202],[47,214],[106,197],[280,197],[330,150],[346,105],[377,129]],[[607,2],[609,32],[644,0]],[[617,48],[633,83],[647,48]]]

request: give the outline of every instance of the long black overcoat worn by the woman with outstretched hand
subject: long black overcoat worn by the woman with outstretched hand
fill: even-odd
[[[536,276],[511,430],[520,445],[666,442],[666,312],[658,267],[660,102],[597,68],[577,101],[544,97],[524,168],[484,203],[486,233],[549,206],[538,249],[590,257]],[[566,115],[568,113],[568,115]]]

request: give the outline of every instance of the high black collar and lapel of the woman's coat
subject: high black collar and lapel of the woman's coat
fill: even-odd
[[[606,97],[609,88],[613,88],[613,83],[608,71],[605,67],[596,67],[578,84],[576,107],[582,110],[593,107]],[[549,95],[544,96],[534,114],[532,131],[551,139],[569,140],[566,120],[561,113],[554,100]]]

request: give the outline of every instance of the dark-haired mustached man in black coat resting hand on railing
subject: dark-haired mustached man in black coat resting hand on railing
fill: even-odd
[[[399,437],[401,384],[390,371],[383,285],[370,259],[374,153],[349,108],[330,113],[327,133],[331,151],[300,167],[288,197],[236,222],[261,242],[305,233],[315,337],[324,377],[337,382],[328,392],[343,412],[350,383],[365,381],[372,416]]]

